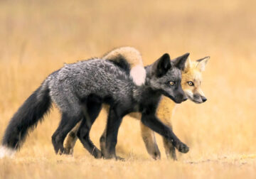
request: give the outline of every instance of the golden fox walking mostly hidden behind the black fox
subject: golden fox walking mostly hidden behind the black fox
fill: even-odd
[[[111,60],[115,63],[119,63],[120,59],[124,60],[127,65],[130,65],[132,67],[137,67],[137,70],[141,70],[141,73],[143,74],[142,66],[143,66],[143,60],[142,55],[140,55],[139,50],[136,48],[131,47],[122,47],[112,50],[110,53],[107,53],[104,58],[105,60]],[[203,90],[201,89],[201,82],[202,82],[202,72],[205,70],[206,64],[208,63],[208,60],[210,59],[209,56],[205,58],[201,58],[196,61],[191,61],[191,59],[188,57],[188,60],[186,60],[186,64],[184,69],[181,71],[181,87],[183,91],[186,94],[186,97],[190,99],[192,102],[195,102],[196,104],[201,104],[203,102],[206,102],[205,94],[203,94]],[[135,73],[133,73],[135,74]],[[136,72],[136,74],[139,74],[139,72]],[[134,75],[132,76],[133,79],[137,79],[140,83],[137,83],[137,85],[142,85],[144,82],[144,76],[143,75]],[[134,81],[135,82],[135,81]],[[156,114],[157,116],[160,116],[159,119],[169,126],[172,129],[171,125],[171,118],[174,115],[174,111],[176,109],[177,104],[170,100],[168,97],[165,97],[164,95],[161,97],[161,100],[159,102],[159,106],[157,108]],[[108,107],[103,107],[107,111]],[[141,119],[141,115],[139,113],[130,113],[128,116],[132,116],[135,119]],[[77,141],[77,132],[80,126],[80,122],[72,129],[72,131],[69,132],[68,136],[65,140],[65,151],[66,153],[73,155],[75,142]],[[154,131],[149,129],[147,126],[145,126],[142,122],[140,123],[141,126],[141,134],[142,139],[144,141],[144,144],[146,146],[146,151],[149,153],[151,158],[160,159],[161,153],[159,151],[159,147],[156,143],[156,138],[154,136]],[[104,137],[105,134],[102,134],[102,137],[100,139],[100,146],[101,148],[104,148]],[[176,150],[172,143],[170,143],[168,140],[166,140],[163,137],[164,141],[164,148],[166,151],[167,158],[177,160],[176,157]]]

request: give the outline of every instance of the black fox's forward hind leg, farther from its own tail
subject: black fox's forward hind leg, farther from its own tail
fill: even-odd
[[[95,158],[101,158],[101,151],[90,140],[90,129],[95,119],[102,109],[102,99],[97,96],[90,96],[87,98],[85,105],[82,109],[83,118],[80,128],[78,129],[78,139],[82,145],[89,151]]]

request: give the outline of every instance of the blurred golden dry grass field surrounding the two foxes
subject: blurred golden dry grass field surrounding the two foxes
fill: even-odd
[[[53,109],[15,158],[0,159],[0,178],[256,178],[256,1],[0,1],[0,137],[23,101],[64,63],[137,48],[148,65],[163,53],[210,55],[204,104],[176,109],[174,132],[190,147],[178,161],[146,153],[139,121],[126,117],[117,154],[97,160],[80,142],[73,157],[55,156]],[[92,127],[99,146],[102,112]]]

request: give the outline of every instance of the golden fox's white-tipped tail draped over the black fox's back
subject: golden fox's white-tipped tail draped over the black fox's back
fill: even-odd
[[[132,47],[121,47],[112,50],[103,56],[102,59],[113,61],[117,65],[127,68],[129,65],[129,74],[135,85],[143,85],[146,80],[146,70],[144,69],[142,55]]]

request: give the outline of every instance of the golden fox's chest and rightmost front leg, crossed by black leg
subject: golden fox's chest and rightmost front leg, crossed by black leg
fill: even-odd
[[[159,116],[159,119],[166,124],[166,126],[169,126],[172,129],[172,124],[171,124],[171,117],[176,108],[176,104],[171,101],[168,97],[162,97],[161,102],[159,103],[159,106],[157,108],[156,114]],[[167,158],[173,159],[174,161],[177,160],[176,157],[176,151],[174,145],[163,137],[164,141],[164,148],[166,151],[166,156]]]

